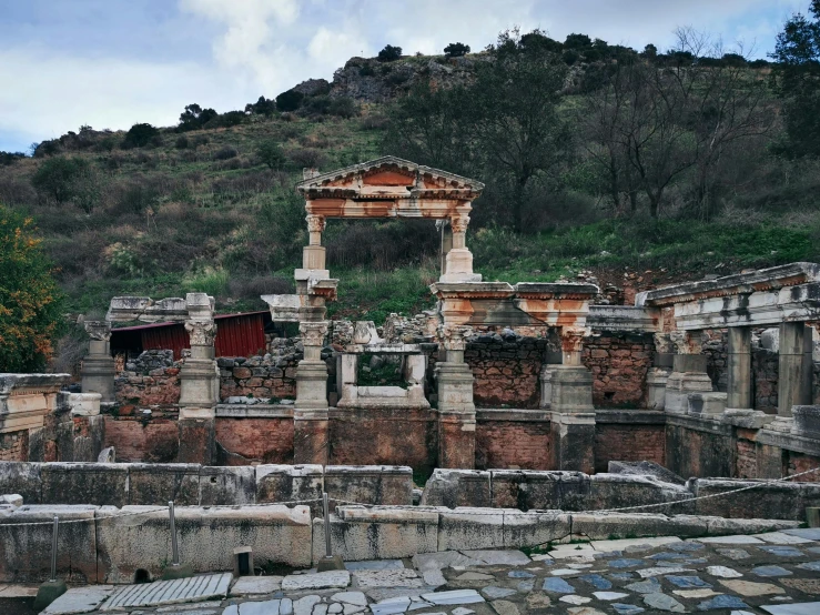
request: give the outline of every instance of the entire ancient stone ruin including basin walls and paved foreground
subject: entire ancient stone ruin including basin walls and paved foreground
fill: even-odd
[[[307,170],[296,292],[264,315],[121,295],[79,391],[0,374],[0,609],[820,613],[820,265],[621,302],[487,281],[483,189]],[[435,309],[328,315],[323,233],[368,219],[435,222]]]

